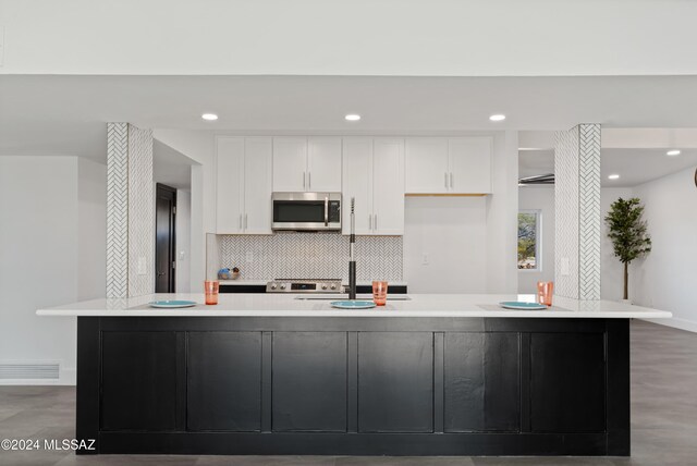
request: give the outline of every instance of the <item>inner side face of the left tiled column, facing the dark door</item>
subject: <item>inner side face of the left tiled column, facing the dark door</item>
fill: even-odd
[[[129,125],[129,296],[155,292],[152,131]],[[138,258],[146,273],[138,274]]]

